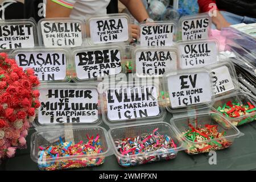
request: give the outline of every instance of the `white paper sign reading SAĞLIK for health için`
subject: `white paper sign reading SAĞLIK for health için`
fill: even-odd
[[[77,47],[82,45],[81,24],[79,22],[41,22],[41,32],[45,47]]]

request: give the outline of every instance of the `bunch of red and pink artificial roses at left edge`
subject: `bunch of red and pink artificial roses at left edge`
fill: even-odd
[[[33,90],[38,84],[33,69],[23,71],[15,60],[0,53],[0,160],[26,147],[28,128],[40,106],[39,91]]]

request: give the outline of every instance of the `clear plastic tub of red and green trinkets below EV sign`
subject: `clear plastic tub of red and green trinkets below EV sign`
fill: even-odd
[[[214,112],[180,115],[179,117],[172,118],[170,123],[176,132],[179,133],[179,137],[182,138],[185,152],[190,155],[228,148],[232,145],[235,138],[243,135],[228,119]],[[204,137],[205,139],[201,140],[196,138],[195,135],[193,135],[193,138],[196,138],[195,140],[190,140],[185,137],[186,134],[189,134],[188,131],[191,130],[192,127],[198,131],[199,128],[210,127],[207,125],[216,125],[217,132],[220,134],[217,134],[215,138],[210,138],[212,136],[209,137],[208,135],[209,138]],[[201,132],[199,137],[201,137],[202,134],[205,136],[205,133]]]

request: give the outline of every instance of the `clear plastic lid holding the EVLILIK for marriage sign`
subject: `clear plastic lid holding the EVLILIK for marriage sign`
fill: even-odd
[[[109,127],[155,121],[166,115],[158,101],[159,84],[110,82],[99,92],[102,118]]]

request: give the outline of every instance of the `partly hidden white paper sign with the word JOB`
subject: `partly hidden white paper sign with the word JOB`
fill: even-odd
[[[214,94],[228,92],[234,89],[234,84],[229,73],[229,69],[226,66],[222,66],[216,69],[212,69],[213,82],[214,82]]]

